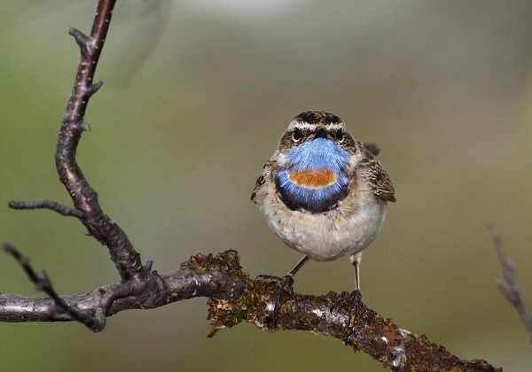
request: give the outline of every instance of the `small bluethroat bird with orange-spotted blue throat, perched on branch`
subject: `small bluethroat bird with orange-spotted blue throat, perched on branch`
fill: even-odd
[[[348,256],[360,291],[362,252],[375,239],[395,202],[395,190],[373,143],[356,141],[330,112],[301,112],[281,136],[257,179],[251,199],[288,246],[307,260]]]

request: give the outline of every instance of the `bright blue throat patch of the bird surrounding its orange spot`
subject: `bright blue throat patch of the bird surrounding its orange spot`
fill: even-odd
[[[348,194],[349,177],[345,173],[350,155],[331,140],[317,138],[288,151],[289,165],[278,171],[276,186],[285,205],[292,210],[313,213],[330,210]],[[304,185],[293,181],[297,173],[330,174],[331,182]],[[327,178],[328,180],[328,178]]]

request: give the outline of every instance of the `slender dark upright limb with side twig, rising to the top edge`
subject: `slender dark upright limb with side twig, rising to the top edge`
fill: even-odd
[[[90,35],[71,27],[68,31],[81,50],[80,62],[74,79],[72,94],[66,105],[56,146],[56,167],[59,179],[65,185],[74,207],[60,205],[51,200],[12,201],[13,209],[50,209],[64,216],[74,216],[82,221],[89,236],[106,245],[111,260],[122,280],[128,280],[143,271],[140,254],[129,241],[126,233],[102,209],[98,194],[92,189],[78,166],[75,155],[83,131],[90,129],[84,121],[85,111],[92,97],[103,82],[93,83],[96,67],[113,15],[116,0],[99,0]]]

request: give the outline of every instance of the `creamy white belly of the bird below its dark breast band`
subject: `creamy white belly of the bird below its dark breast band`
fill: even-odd
[[[341,205],[318,214],[279,206],[275,198],[265,198],[260,205],[270,229],[290,247],[318,261],[364,250],[379,233],[387,208],[386,202],[370,193],[362,196],[350,213],[342,211]]]

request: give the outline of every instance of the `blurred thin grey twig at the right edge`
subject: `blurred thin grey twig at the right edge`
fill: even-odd
[[[514,308],[517,310],[521,321],[525,324],[530,340],[532,342],[532,314],[528,311],[525,301],[520,295],[520,289],[517,285],[517,272],[515,269],[515,264],[511,259],[506,256],[505,249],[503,246],[503,237],[500,236],[497,231],[492,226],[488,226],[489,234],[495,245],[497,251],[497,256],[501,262],[501,267],[503,269],[504,280],[497,281],[497,287],[499,291],[503,294]]]

